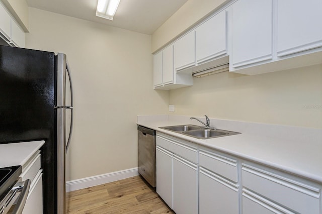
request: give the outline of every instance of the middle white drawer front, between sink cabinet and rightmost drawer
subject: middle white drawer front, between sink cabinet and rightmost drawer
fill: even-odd
[[[237,160],[200,150],[199,165],[222,175],[229,180],[238,182]]]

